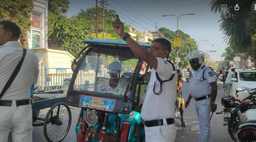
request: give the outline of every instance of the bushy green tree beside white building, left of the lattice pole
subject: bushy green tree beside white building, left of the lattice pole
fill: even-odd
[[[48,22],[49,48],[65,50],[76,56],[85,47],[83,41],[89,38],[90,31],[87,20],[49,12]]]

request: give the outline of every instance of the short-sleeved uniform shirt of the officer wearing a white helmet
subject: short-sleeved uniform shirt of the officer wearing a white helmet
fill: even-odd
[[[203,79],[203,72],[204,78],[206,80]],[[212,69],[202,64],[200,68],[194,71],[191,76],[191,83],[189,88],[191,96],[193,98],[200,98],[211,94],[212,86],[210,85],[210,83],[215,81],[216,80]]]

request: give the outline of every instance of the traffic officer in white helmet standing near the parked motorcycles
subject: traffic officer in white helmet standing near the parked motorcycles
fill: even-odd
[[[204,53],[194,50],[186,56],[194,70],[191,76],[190,94],[185,103],[188,108],[192,98],[195,99],[196,113],[199,120],[199,142],[211,141],[210,113],[216,111],[214,103],[217,96],[217,84],[211,68],[204,64]]]

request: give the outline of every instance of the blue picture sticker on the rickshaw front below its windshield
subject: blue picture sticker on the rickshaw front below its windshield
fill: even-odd
[[[114,111],[116,100],[102,97],[81,95],[79,107],[95,108],[105,111]]]

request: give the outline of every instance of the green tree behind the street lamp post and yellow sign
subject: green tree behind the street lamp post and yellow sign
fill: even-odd
[[[173,38],[175,38],[177,35],[176,32],[171,31],[170,29],[167,29],[165,27],[160,28],[158,31],[161,32],[162,34],[164,34],[164,36],[171,42],[173,42]],[[180,58],[179,66],[184,69],[189,66],[189,63],[185,59],[185,57],[191,51],[196,50],[197,46],[196,46],[196,42],[194,39],[192,39],[188,34],[185,34],[184,32],[182,32],[180,30],[179,30],[179,37],[181,38],[181,47],[178,49],[179,50],[178,51],[179,58]],[[169,58],[173,59],[174,61],[175,61],[175,58],[177,58],[177,50],[176,50],[176,48],[173,48],[173,45],[172,45],[172,51],[169,55]]]

